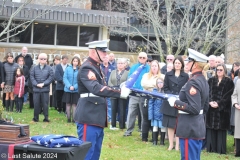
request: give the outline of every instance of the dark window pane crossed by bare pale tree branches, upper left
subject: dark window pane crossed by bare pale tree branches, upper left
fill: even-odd
[[[28,26],[28,27],[27,27]],[[31,24],[23,24],[22,21],[12,22],[10,32],[10,43],[30,43],[31,42]]]

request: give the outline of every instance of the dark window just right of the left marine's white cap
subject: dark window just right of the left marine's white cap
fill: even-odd
[[[125,40],[127,40],[126,36],[111,35],[109,49],[111,51],[127,52],[127,43],[125,42]]]

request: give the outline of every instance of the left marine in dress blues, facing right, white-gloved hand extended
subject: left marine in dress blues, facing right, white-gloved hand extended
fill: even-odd
[[[107,127],[107,104],[105,97],[126,98],[130,90],[123,87],[111,88],[106,85],[100,70],[100,63],[107,55],[109,40],[86,43],[89,57],[78,72],[78,100],[74,120],[78,137],[92,143],[86,160],[98,160],[104,137],[103,128]]]

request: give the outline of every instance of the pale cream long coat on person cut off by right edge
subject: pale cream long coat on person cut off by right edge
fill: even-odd
[[[240,139],[240,110],[235,108],[235,104],[240,104],[240,79],[235,84],[235,89],[232,94],[232,108],[235,110],[235,130],[234,138]]]

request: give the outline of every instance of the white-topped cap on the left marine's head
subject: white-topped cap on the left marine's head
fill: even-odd
[[[90,49],[97,49],[99,51],[108,52],[110,51],[108,49],[108,42],[109,42],[109,39],[102,40],[102,41],[88,42],[86,43],[86,45],[88,45],[88,48]]]

